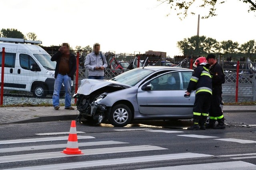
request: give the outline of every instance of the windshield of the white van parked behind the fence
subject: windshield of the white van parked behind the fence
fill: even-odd
[[[49,54],[33,54],[36,59],[46,68],[47,70],[55,70],[56,62],[51,61]]]

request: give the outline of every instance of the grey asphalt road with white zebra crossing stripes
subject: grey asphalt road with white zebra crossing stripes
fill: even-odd
[[[70,121],[3,124],[0,169],[256,169],[256,128],[252,126],[256,113],[227,113],[225,117],[226,129],[205,131],[186,130],[192,123],[189,120],[140,121],[127,127],[76,123],[78,145],[85,143],[79,146],[84,154],[68,157],[60,151],[67,146]],[[52,154],[58,156],[51,158]]]

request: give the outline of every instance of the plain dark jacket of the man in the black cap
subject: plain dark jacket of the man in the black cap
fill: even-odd
[[[212,88],[221,87],[225,82],[225,74],[222,66],[218,62],[211,66],[210,74],[212,76]]]

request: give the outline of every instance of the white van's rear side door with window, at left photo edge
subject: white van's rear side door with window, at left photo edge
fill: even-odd
[[[18,86],[17,79],[14,79],[16,53],[5,53],[4,55],[4,89],[13,90]],[[0,52],[0,67],[2,74],[2,52]],[[1,80],[0,80],[1,81]]]

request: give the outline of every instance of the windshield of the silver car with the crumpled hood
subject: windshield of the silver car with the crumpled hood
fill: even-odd
[[[147,70],[147,69],[133,69],[127,72],[124,72],[111,80],[116,82],[121,82],[130,86],[135,86],[140,80],[148,76],[154,72],[154,70]]]

